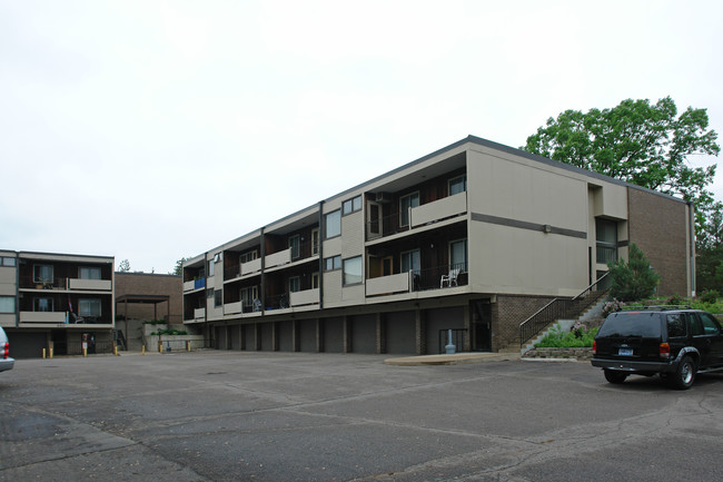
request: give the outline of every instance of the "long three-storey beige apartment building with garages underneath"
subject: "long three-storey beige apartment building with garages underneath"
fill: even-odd
[[[187,260],[184,323],[225,350],[518,347],[630,243],[693,292],[691,205],[471,136]]]

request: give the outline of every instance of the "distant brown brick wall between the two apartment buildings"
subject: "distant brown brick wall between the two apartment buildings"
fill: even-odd
[[[156,275],[146,273],[116,273],[116,298],[123,295],[168,295],[166,303],[159,303],[157,317],[162,318],[166,313],[170,315],[171,323],[182,323],[182,282],[180,276]],[[118,303],[116,314],[125,313],[125,304]],[[153,305],[128,303],[128,317],[136,319],[152,319]]]

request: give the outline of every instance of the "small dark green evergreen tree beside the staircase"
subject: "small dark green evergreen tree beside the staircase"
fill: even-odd
[[[612,285],[610,294],[621,302],[635,302],[655,293],[661,277],[653,270],[647,258],[635,243],[630,244],[628,260],[610,264]]]

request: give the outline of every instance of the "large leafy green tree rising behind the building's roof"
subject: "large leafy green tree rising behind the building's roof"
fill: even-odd
[[[713,206],[706,186],[715,165],[692,167],[692,155],[717,156],[717,134],[705,109],[680,116],[670,97],[623,100],[610,109],[565,110],[527,138],[522,148],[551,159],[691,200],[703,213]]]

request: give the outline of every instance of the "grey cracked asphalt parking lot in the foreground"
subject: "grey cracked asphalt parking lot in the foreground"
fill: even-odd
[[[723,480],[723,375],[215,352],[22,360],[0,481]]]

